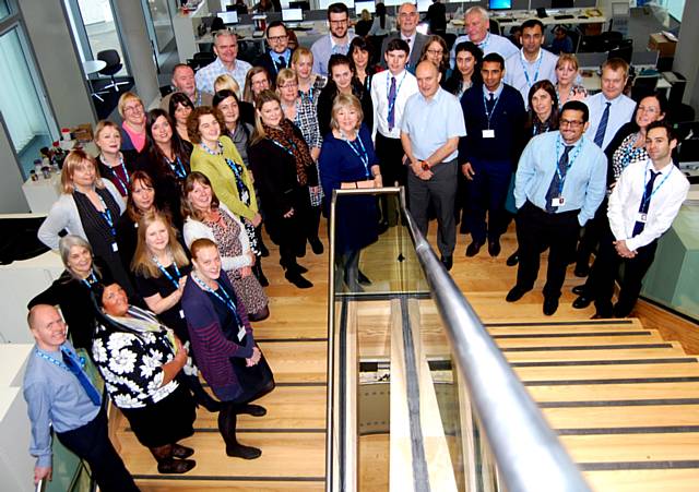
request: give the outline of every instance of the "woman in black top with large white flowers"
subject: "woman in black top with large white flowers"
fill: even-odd
[[[177,374],[188,361],[171,329],[150,311],[129,305],[118,284],[105,287],[104,314],[93,340],[93,359],[114,404],[157,460],[161,473],[185,473],[194,451],[177,444],[194,433],[194,401]]]

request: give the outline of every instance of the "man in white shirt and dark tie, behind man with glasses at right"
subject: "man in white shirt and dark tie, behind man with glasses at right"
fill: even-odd
[[[629,65],[620,58],[605,61],[602,63],[602,92],[585,99],[590,109],[588,135],[603,151],[621,125],[631,120],[636,109],[633,99],[624,95],[628,74]]]

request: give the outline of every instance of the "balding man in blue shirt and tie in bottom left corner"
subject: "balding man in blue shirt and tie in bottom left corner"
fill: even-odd
[[[50,480],[51,428],[58,440],[90,465],[103,491],[138,491],[107,433],[100,395],[66,339],[66,323],[52,305],[37,304],[27,322],[36,340],[24,374],[24,399],[32,422],[29,453],[37,457],[34,481]]]

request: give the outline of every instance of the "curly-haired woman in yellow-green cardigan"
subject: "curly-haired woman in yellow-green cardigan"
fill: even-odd
[[[257,256],[252,271],[264,287],[269,283],[260,263],[259,235],[262,216],[258,209],[252,175],[233,141],[222,135],[225,128],[218,109],[210,106],[194,108],[187,118],[187,132],[194,144],[190,167],[192,171],[199,171],[209,178],[218,200],[240,218],[250,239],[250,249]]]

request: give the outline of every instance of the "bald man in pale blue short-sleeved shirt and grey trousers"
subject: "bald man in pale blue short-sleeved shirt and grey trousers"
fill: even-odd
[[[415,71],[419,92],[405,104],[401,142],[410,170],[410,211],[418,229],[427,236],[427,209],[437,214],[437,245],[447,269],[457,245],[454,197],[459,139],[466,129],[459,99],[439,86],[441,75],[430,61]]]

